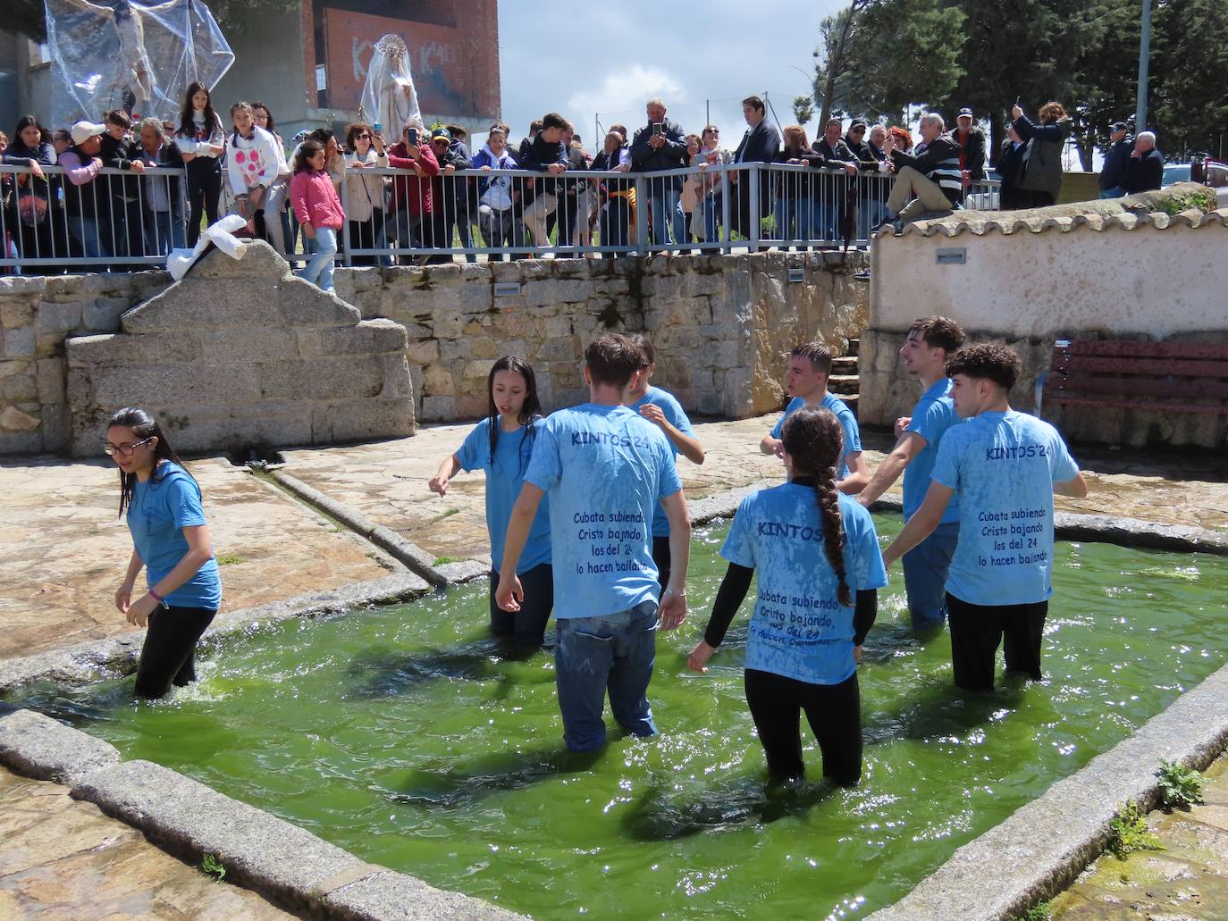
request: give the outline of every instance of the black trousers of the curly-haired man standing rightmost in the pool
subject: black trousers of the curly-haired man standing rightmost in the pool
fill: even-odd
[[[955,684],[964,690],[993,690],[993,661],[1006,639],[1006,670],[1034,680],[1040,672],[1040,643],[1049,602],[1035,604],[969,604],[947,593],[950,663]]]

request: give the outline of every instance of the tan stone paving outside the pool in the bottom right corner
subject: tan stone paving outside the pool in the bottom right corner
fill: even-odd
[[[1205,806],[1153,812],[1163,851],[1105,853],[1050,903],[1054,921],[1228,920],[1228,755],[1203,775]]]

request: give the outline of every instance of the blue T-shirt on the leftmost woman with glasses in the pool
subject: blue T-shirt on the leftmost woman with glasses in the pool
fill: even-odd
[[[158,480],[138,480],[128,505],[128,530],[136,555],[145,564],[145,585],[156,586],[188,555],[184,528],[208,524],[200,507],[200,486],[179,464],[163,460]],[[196,575],[166,596],[176,608],[216,610],[222,603],[222,580],[217,560],[210,556]]]

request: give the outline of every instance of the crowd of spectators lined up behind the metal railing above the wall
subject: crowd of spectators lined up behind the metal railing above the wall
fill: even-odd
[[[763,247],[809,247],[847,244],[888,222],[964,206],[971,187],[989,176],[986,138],[969,108],[950,130],[941,114],[923,115],[917,141],[899,125],[855,118],[846,129],[833,118],[813,144],[802,125],[777,130],[759,97],[747,97],[742,108],[747,129],[732,146],[722,144],[717,125],[688,134],[661,98],[648,99],[645,124],[634,131],[612,125],[596,155],[558,113],[534,122],[518,144],[508,125],[495,123],[475,139],[474,152],[459,125],[421,122],[387,139],[383,125],[354,123],[340,144],[318,129],[287,146],[268,106],[237,102],[227,124],[209,90],[194,82],[174,123],[134,123],[115,109],[101,123],[50,131],[23,117],[12,142],[0,135],[4,163],[27,168],[2,176],[0,227],[6,254],[43,265],[68,257],[109,264],[165,255],[194,246],[201,227],[227,209],[247,219],[249,236],[317,266],[322,241],[343,247],[346,238],[360,265],[392,264],[392,253],[379,251],[405,249],[416,251],[418,262],[448,262],[456,248],[479,247],[508,251],[503,258],[551,247],[559,255],[597,255],[594,244],[629,246],[641,221],[652,244],[674,251],[720,241],[726,231]],[[995,158],[1003,210],[1056,200],[1071,124],[1056,102],[1041,107],[1036,120],[1014,107]],[[1142,131],[1133,141],[1126,135],[1124,123],[1111,126],[1099,177],[1104,198],[1159,188],[1154,134]],[[312,146],[305,160],[308,141],[319,151]],[[308,167],[321,157],[318,169]],[[781,167],[727,168],[737,163]],[[54,166],[63,172],[44,171]],[[312,182],[297,185],[322,194],[319,177],[327,177],[338,196],[335,214],[322,210],[319,195],[305,201],[295,193],[293,174],[308,169]],[[589,172],[600,174],[583,176]],[[309,217],[325,211],[327,226]]]

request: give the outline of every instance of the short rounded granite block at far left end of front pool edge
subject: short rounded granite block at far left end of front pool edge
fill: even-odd
[[[119,764],[114,745],[33,710],[0,716],[0,764],[36,780],[71,786]]]

